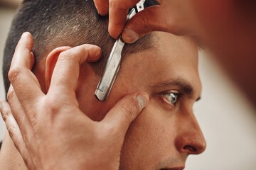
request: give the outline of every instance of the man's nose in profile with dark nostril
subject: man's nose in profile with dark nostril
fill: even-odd
[[[183,116],[178,122],[176,149],[181,153],[201,154],[206,149],[206,140],[195,116]]]

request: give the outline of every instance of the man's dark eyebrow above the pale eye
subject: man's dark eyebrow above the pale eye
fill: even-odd
[[[194,89],[192,85],[186,81],[185,79],[178,78],[174,80],[168,80],[168,81],[160,81],[157,83],[157,85],[151,86],[153,88],[164,88],[169,86],[178,86],[183,93],[185,93],[190,98],[193,97]],[[199,101],[201,99],[201,96],[199,96],[196,101]]]

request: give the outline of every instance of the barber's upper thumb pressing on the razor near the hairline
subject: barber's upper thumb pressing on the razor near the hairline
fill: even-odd
[[[165,31],[162,14],[161,6],[151,6],[137,13],[127,22],[122,32],[124,42],[133,43],[152,31]]]

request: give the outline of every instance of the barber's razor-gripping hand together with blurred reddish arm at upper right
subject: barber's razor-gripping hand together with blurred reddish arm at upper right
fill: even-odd
[[[255,106],[255,1],[162,0],[160,6],[146,8],[124,24],[122,11],[136,3],[95,0],[100,14],[110,12],[109,33],[113,38],[122,33],[123,40],[132,43],[151,31],[193,35],[213,53]]]

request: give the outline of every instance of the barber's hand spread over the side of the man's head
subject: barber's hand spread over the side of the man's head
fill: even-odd
[[[31,72],[33,38],[24,33],[11,63],[9,104],[1,114],[28,169],[118,169],[129,124],[149,101],[146,94],[125,96],[100,122],[78,108],[75,89],[80,64],[100,58],[100,47],[81,45],[60,54],[48,94]]]

